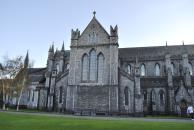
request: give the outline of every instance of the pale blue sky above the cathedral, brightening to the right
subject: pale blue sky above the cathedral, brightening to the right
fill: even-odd
[[[50,45],[69,50],[93,11],[107,32],[118,25],[120,48],[194,44],[194,0],[0,0],[0,62],[28,50],[45,67]]]

